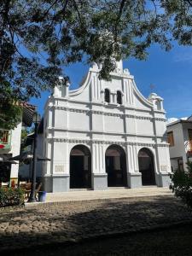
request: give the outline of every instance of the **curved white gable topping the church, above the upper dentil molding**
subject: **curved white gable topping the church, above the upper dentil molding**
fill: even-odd
[[[96,63],[93,64],[78,89],[69,90],[68,93],[62,93],[62,91],[67,91],[68,88],[64,88],[65,85],[63,85],[62,88],[60,87],[60,89],[56,86],[57,95],[60,97],[67,97],[77,102],[95,102],[97,104],[105,104],[108,106],[116,105],[118,107],[117,91],[120,91],[122,96],[121,107],[137,108],[148,111],[151,111],[154,108],[164,111],[162,99],[159,96],[154,96],[154,94],[147,99],[141,94],[137,89],[134,77],[129,73],[129,70],[123,69],[122,61],[118,62],[117,68],[111,73],[110,81],[99,79],[100,70],[101,67],[97,66]],[[105,89],[108,89],[110,94],[110,102],[108,103],[105,102]],[[61,93],[58,92],[60,90]]]

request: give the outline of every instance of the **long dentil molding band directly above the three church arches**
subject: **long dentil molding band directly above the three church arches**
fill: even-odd
[[[88,140],[79,138],[61,138],[61,137],[48,137],[48,141],[53,141],[55,143],[80,143],[80,144],[117,144],[121,146],[131,145],[131,146],[143,146],[143,147],[169,147],[167,143],[141,143],[141,142],[122,142],[122,141],[103,141],[103,140]]]

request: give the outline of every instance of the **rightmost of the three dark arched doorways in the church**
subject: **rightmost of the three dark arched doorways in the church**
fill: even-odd
[[[142,173],[143,186],[155,185],[154,155],[148,148],[142,148],[138,153],[139,172]]]

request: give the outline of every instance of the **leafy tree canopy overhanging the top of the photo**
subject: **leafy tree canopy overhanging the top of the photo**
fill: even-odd
[[[100,62],[109,79],[114,59],[143,60],[172,40],[192,44],[192,0],[1,0],[0,112],[67,82],[70,63]]]

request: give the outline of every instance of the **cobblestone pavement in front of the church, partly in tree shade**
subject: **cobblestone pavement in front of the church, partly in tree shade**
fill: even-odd
[[[0,213],[0,251],[192,222],[192,213],[172,195],[54,202]]]

